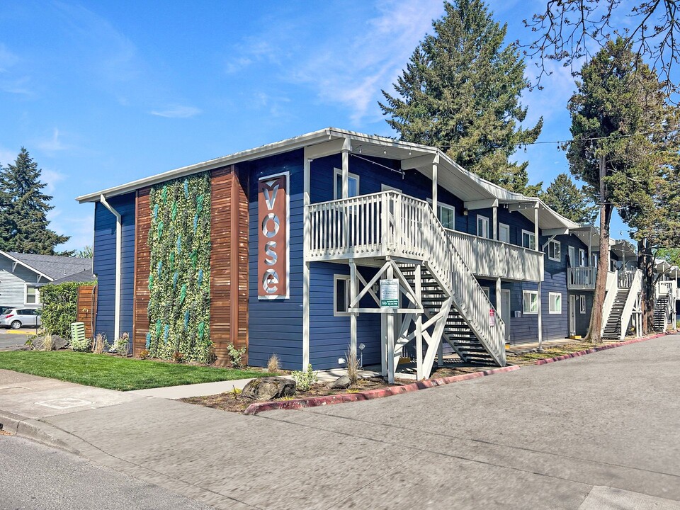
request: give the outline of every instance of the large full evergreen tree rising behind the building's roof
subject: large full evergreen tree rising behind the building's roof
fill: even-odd
[[[507,26],[492,18],[482,0],[445,1],[446,14],[433,21],[394,84],[385,91],[382,113],[402,140],[441,147],[465,169],[512,191],[536,195],[528,186],[527,162],[509,157],[518,145],[538,138],[536,126],[519,126],[527,108],[525,64],[514,45],[504,45]]]

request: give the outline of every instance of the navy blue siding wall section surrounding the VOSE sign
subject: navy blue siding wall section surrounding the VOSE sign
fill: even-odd
[[[266,366],[269,356],[276,353],[285,370],[302,368],[302,215],[304,212],[302,187],[302,149],[273,157],[256,159],[244,164],[249,171],[249,244],[248,244],[248,344],[249,364]],[[288,232],[290,234],[288,263],[288,299],[259,300],[259,275],[257,261],[258,203],[257,184],[261,177],[289,172]]]

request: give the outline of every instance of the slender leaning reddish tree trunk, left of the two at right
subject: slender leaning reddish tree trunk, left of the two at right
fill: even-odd
[[[607,290],[607,273],[609,271],[609,223],[611,222],[612,205],[608,203],[606,176],[606,160],[600,157],[600,257],[597,264],[597,278],[595,280],[595,295],[593,310],[590,315],[590,328],[586,336],[587,341],[594,344],[602,342],[602,308],[604,295]]]

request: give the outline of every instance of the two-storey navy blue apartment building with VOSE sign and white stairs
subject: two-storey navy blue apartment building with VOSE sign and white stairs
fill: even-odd
[[[171,322],[149,324],[191,291],[152,297],[159,281],[176,283],[174,256],[188,249],[189,232],[170,234],[157,217],[170,204],[150,197],[181,179],[193,208],[189,179],[199,178],[210,186],[210,239],[192,254],[209,249],[210,281],[199,276],[196,288],[210,310],[187,305]],[[569,303],[584,293],[567,282],[570,268],[591,259],[589,227],[435,147],[328,128],[77,200],[95,204],[96,332],[130,332],[135,353],[196,336],[191,320],[203,314],[198,334],[210,331],[220,364],[233,343],[247,347],[250,365],[276,353],[283,368],[336,368],[363,344],[363,363],[385,375],[407,352],[427,377],[438,353],[504,365],[506,341],[583,329],[570,325]],[[172,208],[173,218],[183,213]],[[195,232],[198,220],[197,212]],[[152,267],[160,246],[170,263]],[[589,302],[579,315],[589,317]]]

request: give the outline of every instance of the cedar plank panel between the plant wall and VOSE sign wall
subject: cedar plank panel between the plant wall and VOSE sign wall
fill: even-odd
[[[227,344],[248,346],[248,181],[234,166],[213,170],[211,181],[210,339],[216,364],[227,365]]]

